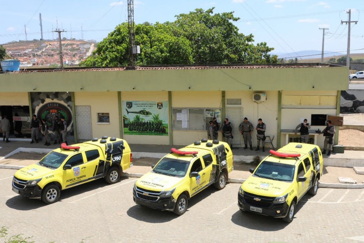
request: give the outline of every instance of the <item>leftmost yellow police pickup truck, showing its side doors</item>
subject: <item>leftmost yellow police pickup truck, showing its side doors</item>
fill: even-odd
[[[62,143],[39,162],[17,170],[12,190],[51,204],[59,200],[63,189],[102,177],[114,184],[130,166],[132,154],[123,139],[103,136],[72,146]]]

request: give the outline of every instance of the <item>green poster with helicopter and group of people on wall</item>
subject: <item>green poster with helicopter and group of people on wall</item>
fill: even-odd
[[[123,101],[124,134],[168,136],[167,101]]]

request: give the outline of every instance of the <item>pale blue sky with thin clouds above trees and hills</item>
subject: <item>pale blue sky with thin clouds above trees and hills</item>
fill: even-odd
[[[273,54],[322,50],[346,54],[348,11],[351,9],[350,53],[364,53],[363,0],[134,0],[136,24],[173,22],[175,15],[196,8],[215,8],[214,13],[234,12],[239,32],[254,35],[254,44],[266,42]],[[41,13],[43,39],[54,39],[60,28],[62,38],[100,42],[115,27],[128,21],[127,0],[17,0],[1,1],[0,44],[40,39]],[[321,29],[320,29],[321,28]],[[322,30],[325,28],[325,30]],[[308,53],[308,52],[307,52]],[[297,54],[297,57],[305,53]],[[291,55],[296,57],[296,55]],[[312,58],[317,58],[313,56]]]

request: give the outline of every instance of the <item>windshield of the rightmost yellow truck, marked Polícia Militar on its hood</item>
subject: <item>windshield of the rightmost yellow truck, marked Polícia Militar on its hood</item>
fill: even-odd
[[[282,163],[263,161],[254,175],[278,181],[293,181],[294,166]]]

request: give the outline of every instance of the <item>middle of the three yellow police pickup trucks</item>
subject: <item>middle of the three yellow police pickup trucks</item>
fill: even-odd
[[[135,182],[133,197],[136,204],[182,215],[192,196],[212,184],[225,187],[233,154],[227,143],[207,139],[171,150]]]

